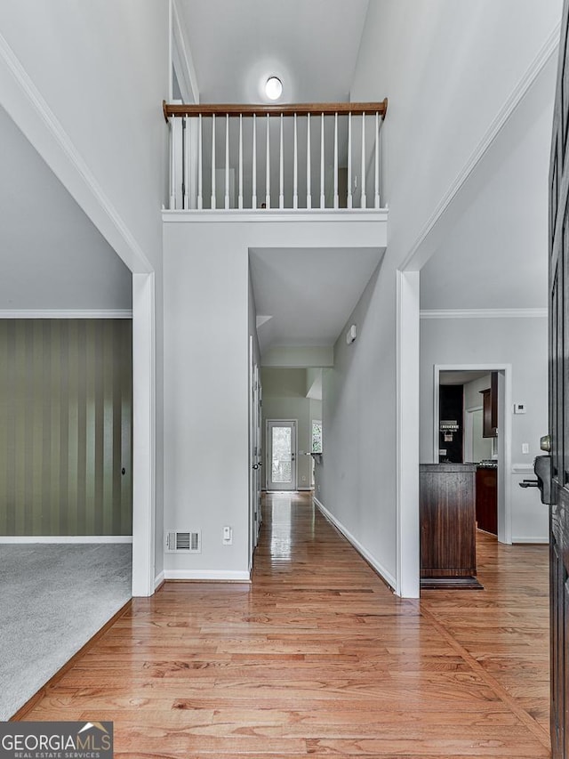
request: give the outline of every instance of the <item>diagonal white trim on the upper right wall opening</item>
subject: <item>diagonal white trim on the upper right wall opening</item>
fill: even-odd
[[[519,79],[517,85],[514,87],[509,98],[504,102],[497,116],[494,118],[492,124],[486,130],[482,140],[478,142],[477,147],[474,149],[469,157],[469,160],[461,168],[459,174],[457,174],[454,182],[451,184],[449,190],[446,191],[445,196],[438,204],[434,213],[430,216],[428,222],[422,228],[418,238],[415,240],[411,247],[409,254],[405,256],[405,261],[401,264],[401,269],[408,268],[412,262],[415,254],[429,237],[430,232],[437,225],[439,219],[445,214],[447,208],[453,202],[453,199],[458,195],[461,187],[467,182],[470,174],[474,172],[477,165],[480,163],[485,153],[490,149],[493,141],[501,132],[503,126],[508,122],[509,117],[517,109],[517,106],[524,100],[525,94],[529,91],[533,82],[540,75],[541,70],[545,68],[552,55],[557,52],[559,46],[559,33],[561,24],[557,23],[555,28],[549,34],[545,44],[541,47],[540,52],[537,53],[532,63],[530,64],[525,74]]]

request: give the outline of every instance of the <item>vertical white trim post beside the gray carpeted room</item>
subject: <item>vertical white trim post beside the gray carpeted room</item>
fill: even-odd
[[[154,593],[156,304],[154,274],[132,274],[132,595]]]

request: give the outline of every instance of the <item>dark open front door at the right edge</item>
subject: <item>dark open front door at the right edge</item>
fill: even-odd
[[[569,757],[569,60],[564,3],[557,94],[549,170],[549,435],[551,446],[550,600],[551,748],[555,759]],[[565,403],[567,400],[567,403]],[[565,550],[564,550],[565,546]],[[566,652],[565,652],[566,651]]]

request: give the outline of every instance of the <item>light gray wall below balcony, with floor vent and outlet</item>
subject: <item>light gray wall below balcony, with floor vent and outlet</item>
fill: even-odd
[[[283,220],[270,212],[165,211],[163,218],[164,526],[189,520],[180,529],[204,530],[201,554],[165,555],[166,576],[244,577],[249,249],[384,246],[387,225],[354,215]],[[233,527],[232,546],[221,545],[224,525]]]

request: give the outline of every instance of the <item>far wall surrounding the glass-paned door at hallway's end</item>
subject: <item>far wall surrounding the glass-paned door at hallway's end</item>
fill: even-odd
[[[307,456],[312,448],[312,419],[310,416],[312,401],[306,397],[306,369],[274,369],[261,370],[263,385],[263,451],[268,452],[267,420],[295,419],[296,448],[297,448],[297,486],[298,489],[308,489],[311,481],[312,456]],[[302,453],[301,453],[302,451]],[[268,465],[265,466],[265,477]],[[264,487],[267,483],[264,482]]]

